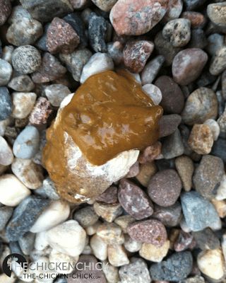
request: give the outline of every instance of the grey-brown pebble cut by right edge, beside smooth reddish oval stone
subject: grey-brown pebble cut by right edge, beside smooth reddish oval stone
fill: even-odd
[[[226,69],[226,47],[220,47],[213,57],[212,62],[210,63],[210,74],[218,76],[222,71]]]

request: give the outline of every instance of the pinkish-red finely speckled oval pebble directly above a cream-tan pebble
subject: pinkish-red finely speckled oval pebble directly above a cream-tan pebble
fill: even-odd
[[[127,232],[133,240],[141,243],[152,243],[157,247],[161,247],[167,241],[165,226],[155,219],[132,223]]]

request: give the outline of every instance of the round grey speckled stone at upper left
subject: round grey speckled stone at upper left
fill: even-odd
[[[31,45],[24,45],[16,48],[12,54],[13,68],[20,74],[31,74],[36,71],[42,58],[40,52]]]

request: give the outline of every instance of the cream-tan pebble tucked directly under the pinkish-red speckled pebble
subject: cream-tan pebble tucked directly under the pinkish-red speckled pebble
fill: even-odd
[[[157,247],[151,243],[143,243],[139,255],[145,260],[161,262],[169,250],[169,241],[165,241],[163,246]]]

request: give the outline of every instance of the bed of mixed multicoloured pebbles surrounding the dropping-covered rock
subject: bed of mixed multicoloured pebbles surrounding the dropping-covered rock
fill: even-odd
[[[224,1],[0,0],[1,264],[109,262],[69,283],[225,282],[225,15]],[[80,83],[119,67],[162,105],[160,141],[96,200],[62,201],[45,131]]]

